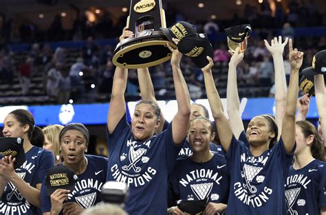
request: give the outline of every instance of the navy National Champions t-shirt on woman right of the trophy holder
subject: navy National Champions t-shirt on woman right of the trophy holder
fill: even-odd
[[[224,155],[213,153],[208,162],[197,163],[191,157],[178,160],[169,181],[169,207],[176,201],[201,200],[227,203],[229,177]]]

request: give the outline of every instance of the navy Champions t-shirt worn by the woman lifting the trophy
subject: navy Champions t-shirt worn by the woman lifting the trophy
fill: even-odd
[[[173,143],[172,123],[145,141],[135,140],[124,115],[112,134],[109,147],[108,181],[129,186],[125,210],[129,214],[166,214],[168,175],[181,147]]]

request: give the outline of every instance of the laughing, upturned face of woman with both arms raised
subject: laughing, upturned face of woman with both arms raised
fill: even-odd
[[[248,142],[255,146],[269,144],[270,140],[275,137],[275,132],[270,128],[268,119],[263,116],[252,118],[248,124],[246,134]]]

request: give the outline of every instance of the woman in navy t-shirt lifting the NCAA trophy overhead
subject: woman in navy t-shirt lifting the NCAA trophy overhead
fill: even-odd
[[[120,40],[129,36],[133,36],[133,32],[124,28]],[[186,138],[191,108],[188,88],[180,70],[182,54],[169,44],[167,46],[173,53],[171,66],[178,108],[166,130],[154,135],[155,128],[161,123],[160,108],[148,100],[135,105],[130,127],[124,101],[127,69],[117,67],[113,77],[107,117],[107,180],[125,181],[129,186],[130,194],[125,204],[129,214],[166,214],[168,176]]]

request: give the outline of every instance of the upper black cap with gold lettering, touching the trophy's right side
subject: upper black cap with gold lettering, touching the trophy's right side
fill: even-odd
[[[183,21],[175,23],[174,25],[172,25],[172,27],[160,27],[160,29],[163,31],[166,38],[168,38],[170,42],[173,42],[172,38],[181,40],[182,38],[184,38],[184,36],[197,32],[195,25]]]

